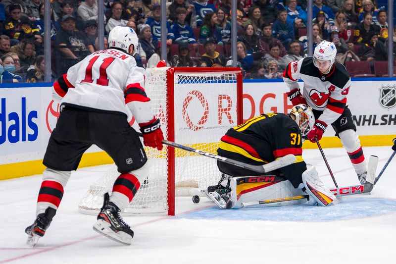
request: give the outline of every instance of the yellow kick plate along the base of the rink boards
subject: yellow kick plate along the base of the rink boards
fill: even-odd
[[[392,146],[392,140],[395,135],[374,135],[374,136],[359,136],[360,143],[363,147],[372,146]],[[338,137],[325,137],[320,140],[322,148],[341,148],[341,141]],[[194,149],[207,151],[216,154],[218,143],[205,144],[191,144],[188,145]],[[303,149],[316,149],[316,143],[311,143],[305,140]],[[147,148],[145,148],[147,150]],[[364,150],[363,150],[364,151]],[[149,152],[149,151],[148,151]],[[176,149],[176,157],[197,156],[198,154]],[[165,158],[165,152],[161,151],[158,158]],[[31,160],[17,163],[0,164],[0,180],[18,178],[34,174],[42,174],[45,166],[43,160]],[[113,163],[113,160],[105,152],[86,153],[81,159],[79,167],[96,166],[100,164]]]

